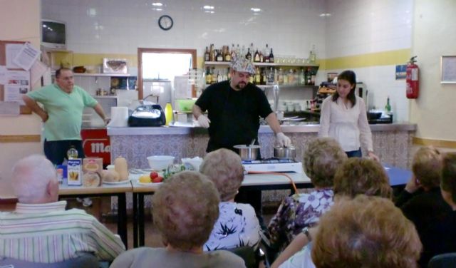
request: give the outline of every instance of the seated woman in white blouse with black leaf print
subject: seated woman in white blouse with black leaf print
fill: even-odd
[[[199,172],[214,182],[221,201],[219,218],[204,244],[204,250],[257,247],[260,227],[254,208],[249,204],[234,202],[234,196],[244,180],[244,168],[239,155],[232,150],[215,150],[206,155]]]

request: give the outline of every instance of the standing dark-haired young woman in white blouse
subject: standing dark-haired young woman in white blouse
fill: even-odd
[[[373,153],[372,133],[369,128],[366,104],[355,94],[356,74],[343,71],[337,77],[337,91],[323,100],[318,136],[335,138],[349,158],[361,157],[361,145],[368,156]]]

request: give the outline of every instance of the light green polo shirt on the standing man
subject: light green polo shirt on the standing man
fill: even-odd
[[[43,104],[49,115],[44,123],[44,137],[53,140],[81,140],[84,107],[94,107],[97,100],[79,86],[71,93],[62,91],[56,84],[30,91],[27,96]]]

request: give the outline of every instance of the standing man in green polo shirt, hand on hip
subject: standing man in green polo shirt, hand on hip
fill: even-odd
[[[75,86],[73,71],[68,68],[56,71],[56,83],[31,91],[22,99],[44,122],[44,154],[54,165],[61,165],[71,146],[78,150],[78,158],[84,158],[81,125],[85,107],[93,108],[105,123],[110,120],[97,100]]]

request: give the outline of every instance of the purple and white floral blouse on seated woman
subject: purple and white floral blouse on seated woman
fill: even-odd
[[[304,227],[314,226],[333,205],[333,196],[332,189],[322,189],[286,197],[269,222],[270,242],[287,245]]]

